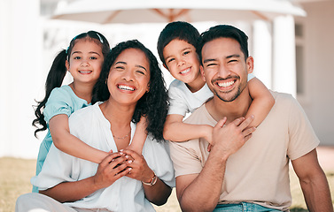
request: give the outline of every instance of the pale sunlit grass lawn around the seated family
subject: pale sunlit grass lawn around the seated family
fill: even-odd
[[[17,158],[0,158],[0,212],[12,212],[15,210],[15,201],[20,194],[31,192],[30,178],[35,174],[35,160],[23,160]],[[330,184],[331,199],[334,200],[334,170],[327,171],[326,176]],[[307,211],[299,181],[291,171],[291,212]],[[158,212],[181,211],[175,197],[175,190],[167,204],[155,207]]]

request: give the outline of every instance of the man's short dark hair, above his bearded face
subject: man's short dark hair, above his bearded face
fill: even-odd
[[[206,42],[211,42],[217,38],[232,38],[240,44],[240,49],[244,53],[245,59],[248,57],[248,36],[237,27],[229,25],[217,25],[211,27],[206,32],[200,34],[197,52],[200,64],[202,64],[202,49]]]

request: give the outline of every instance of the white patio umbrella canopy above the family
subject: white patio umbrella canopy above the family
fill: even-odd
[[[270,20],[278,15],[306,16],[287,0],[78,0],[59,8],[51,19],[99,24],[159,23],[174,20]]]

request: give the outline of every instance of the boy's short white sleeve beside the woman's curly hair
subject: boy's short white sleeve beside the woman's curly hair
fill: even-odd
[[[187,104],[184,96],[182,95],[182,91],[177,87],[169,87],[168,89],[168,97],[169,97],[169,110],[168,115],[170,114],[179,114],[183,117],[189,112]]]

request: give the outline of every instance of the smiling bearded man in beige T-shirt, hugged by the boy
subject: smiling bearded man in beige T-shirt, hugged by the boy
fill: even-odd
[[[275,105],[254,133],[246,127],[250,120],[238,118],[252,103],[247,73],[253,70],[253,58],[248,57],[247,39],[225,25],[201,34],[201,73],[214,97],[186,123],[213,125],[213,147],[207,152],[204,139],[171,142],[180,206],[183,211],[288,211],[291,160],[307,208],[333,211],[316,155],[319,140],[291,95],[272,92]]]

